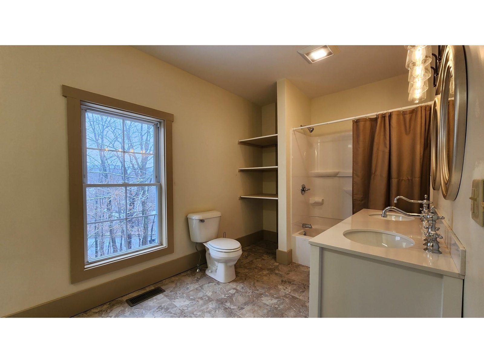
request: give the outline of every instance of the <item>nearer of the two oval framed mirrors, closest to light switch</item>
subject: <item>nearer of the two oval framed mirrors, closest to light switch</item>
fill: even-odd
[[[438,141],[440,187],[445,199],[455,200],[464,166],[467,126],[467,73],[463,45],[445,47],[439,78],[441,79]],[[450,97],[452,80],[454,97]],[[452,101],[454,101],[454,110]]]

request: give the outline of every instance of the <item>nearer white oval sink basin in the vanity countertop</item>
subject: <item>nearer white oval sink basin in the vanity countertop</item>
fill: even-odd
[[[372,247],[408,248],[415,244],[407,236],[378,229],[348,229],[343,232],[343,236],[350,241]]]

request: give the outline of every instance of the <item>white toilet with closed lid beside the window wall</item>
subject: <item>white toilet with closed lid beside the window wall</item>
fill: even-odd
[[[242,246],[230,238],[217,238],[221,216],[217,211],[187,215],[190,239],[205,245],[208,265],[205,273],[225,283],[235,279],[235,263],[242,256]]]

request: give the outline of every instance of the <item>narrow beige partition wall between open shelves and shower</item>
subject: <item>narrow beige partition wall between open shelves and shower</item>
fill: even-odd
[[[279,249],[291,247],[291,135],[292,128],[311,121],[311,100],[289,80],[277,81],[277,139],[279,187]]]

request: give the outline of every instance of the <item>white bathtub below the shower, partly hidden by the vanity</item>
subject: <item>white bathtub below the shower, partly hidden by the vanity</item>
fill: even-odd
[[[292,224],[292,260],[304,266],[309,266],[309,240],[325,230],[337,225],[342,219],[307,217]],[[303,223],[309,223],[312,228],[302,228]],[[306,231],[306,236],[303,232]]]

